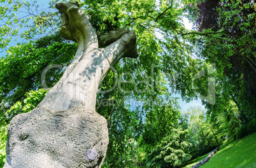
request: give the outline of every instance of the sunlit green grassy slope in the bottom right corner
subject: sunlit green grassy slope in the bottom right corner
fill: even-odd
[[[185,167],[192,167],[197,164],[203,158],[206,158],[208,154],[196,158]],[[237,141],[225,143],[220,146],[220,150],[210,158],[209,162],[201,165],[200,168],[252,168],[256,167],[256,133],[250,134],[249,136],[243,137]]]

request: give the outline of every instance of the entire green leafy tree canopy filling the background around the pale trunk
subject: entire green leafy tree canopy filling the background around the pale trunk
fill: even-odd
[[[7,52],[0,62],[2,164],[11,118],[36,107],[47,92],[42,73],[52,87],[76,52],[76,43],[57,32],[55,3],[42,11],[36,1],[1,1],[0,48]],[[104,167],[176,167],[255,131],[254,1],[78,3],[98,36],[122,27],[137,36],[138,59],[122,59],[97,94],[110,134]],[[185,29],[183,18],[194,30]],[[8,46],[15,39],[22,42]],[[176,93],[202,99],[205,109],[181,111]]]

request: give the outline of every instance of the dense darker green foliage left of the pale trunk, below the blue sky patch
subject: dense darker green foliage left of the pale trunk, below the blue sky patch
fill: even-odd
[[[35,42],[18,44],[8,50],[0,62],[1,116],[13,104],[24,101],[26,92],[41,88],[42,72],[53,64],[69,64],[75,52],[75,44],[64,43],[59,35],[47,36]],[[47,71],[45,80],[48,87],[59,81],[62,69]],[[18,78],[17,78],[18,76]],[[17,115],[17,113],[14,113]],[[12,118],[6,118],[10,122]]]

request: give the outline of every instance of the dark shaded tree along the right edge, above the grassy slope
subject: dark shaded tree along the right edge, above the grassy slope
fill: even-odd
[[[197,6],[200,15],[196,25],[210,32],[204,37],[200,55],[216,64],[217,104],[222,104],[221,111],[227,111],[224,104],[235,102],[241,122],[249,123],[255,118],[256,104],[255,2],[204,1]],[[217,105],[206,103],[206,108],[212,118],[217,116]]]

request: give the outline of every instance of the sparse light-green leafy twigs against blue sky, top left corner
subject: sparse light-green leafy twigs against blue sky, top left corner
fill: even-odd
[[[52,24],[56,22],[56,12],[46,12],[39,9],[37,1],[11,1],[1,0],[0,10],[0,48],[8,46],[14,38],[25,40],[43,37],[50,30],[54,30]]]

